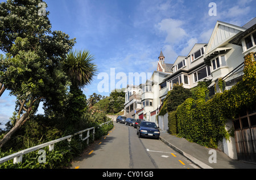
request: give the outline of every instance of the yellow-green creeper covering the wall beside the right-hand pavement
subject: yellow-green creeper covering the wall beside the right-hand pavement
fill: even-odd
[[[256,62],[252,54],[245,56],[243,80],[230,90],[216,93],[205,102],[203,92],[206,87],[198,87],[197,95],[188,98],[177,108],[177,130],[180,137],[211,148],[217,148],[219,140],[229,139],[230,135],[225,130],[226,119],[234,118],[241,110],[255,105]]]

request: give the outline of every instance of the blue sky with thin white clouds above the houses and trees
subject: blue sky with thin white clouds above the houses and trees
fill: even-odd
[[[4,2],[4,1],[0,1]],[[210,2],[217,16],[209,16]],[[46,0],[52,30],[76,37],[75,49],[94,55],[98,73],[110,68],[123,72],[153,72],[160,50],[166,63],[187,55],[195,43],[207,43],[217,20],[244,25],[255,17],[253,0]],[[150,77],[148,77],[150,78]],[[83,89],[86,97],[98,92],[101,79]],[[117,83],[118,80],[115,80]],[[112,89],[109,89],[111,91]],[[0,123],[13,114],[15,97],[0,98]],[[39,113],[42,113],[40,108]],[[0,126],[1,127],[1,126]]]

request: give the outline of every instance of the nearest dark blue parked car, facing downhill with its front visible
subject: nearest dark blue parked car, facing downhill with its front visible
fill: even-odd
[[[160,131],[154,122],[142,121],[137,127],[137,135],[139,138],[143,136],[159,139]]]

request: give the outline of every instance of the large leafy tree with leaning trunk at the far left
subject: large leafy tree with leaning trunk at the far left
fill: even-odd
[[[75,38],[51,31],[49,12],[38,15],[40,2],[9,0],[0,4],[0,49],[6,53],[0,57],[0,87],[16,96],[18,112],[0,148],[35,114],[40,101],[47,108],[67,100],[68,79],[60,65]]]

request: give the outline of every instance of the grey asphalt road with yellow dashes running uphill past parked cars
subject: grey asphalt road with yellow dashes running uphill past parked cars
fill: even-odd
[[[72,169],[195,169],[187,158],[161,140],[138,138],[133,126],[114,128],[76,158]]]

